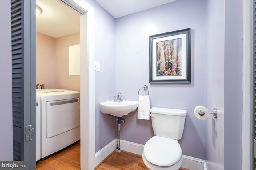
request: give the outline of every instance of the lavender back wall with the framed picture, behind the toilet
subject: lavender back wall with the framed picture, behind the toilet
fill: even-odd
[[[116,19],[116,92],[124,99],[138,100],[138,89],[148,85],[151,107],[186,109],[182,153],[204,159],[204,121],[194,108],[204,105],[205,1],[178,0]],[[191,84],[149,83],[148,36],[192,28]],[[120,138],[145,144],[153,134],[151,121],[138,120],[137,113],[124,116]]]

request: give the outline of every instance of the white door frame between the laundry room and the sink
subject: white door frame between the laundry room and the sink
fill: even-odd
[[[66,0],[87,16],[87,32],[80,37],[80,128],[81,170],[95,168],[95,78],[94,78],[94,8],[85,0]],[[86,30],[86,29],[85,29]],[[86,45],[86,47],[82,47]],[[83,51],[83,49],[85,49]],[[84,52],[87,53],[84,54]],[[88,57],[87,57],[88,56]]]

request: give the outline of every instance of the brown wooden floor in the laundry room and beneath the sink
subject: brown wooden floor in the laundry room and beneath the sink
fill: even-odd
[[[80,170],[80,142],[40,161],[36,170]],[[129,152],[113,152],[96,170],[148,170],[142,157]],[[180,170],[186,170],[180,168]]]

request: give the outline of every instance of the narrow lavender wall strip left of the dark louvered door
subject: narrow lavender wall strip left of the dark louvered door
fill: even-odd
[[[10,1],[0,1],[0,160],[13,160],[12,147],[12,65],[11,65],[11,6]]]

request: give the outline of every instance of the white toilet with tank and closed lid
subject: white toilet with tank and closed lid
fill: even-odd
[[[181,139],[187,111],[152,107],[150,116],[156,136],[143,149],[142,159],[150,170],[178,170],[182,166]]]

